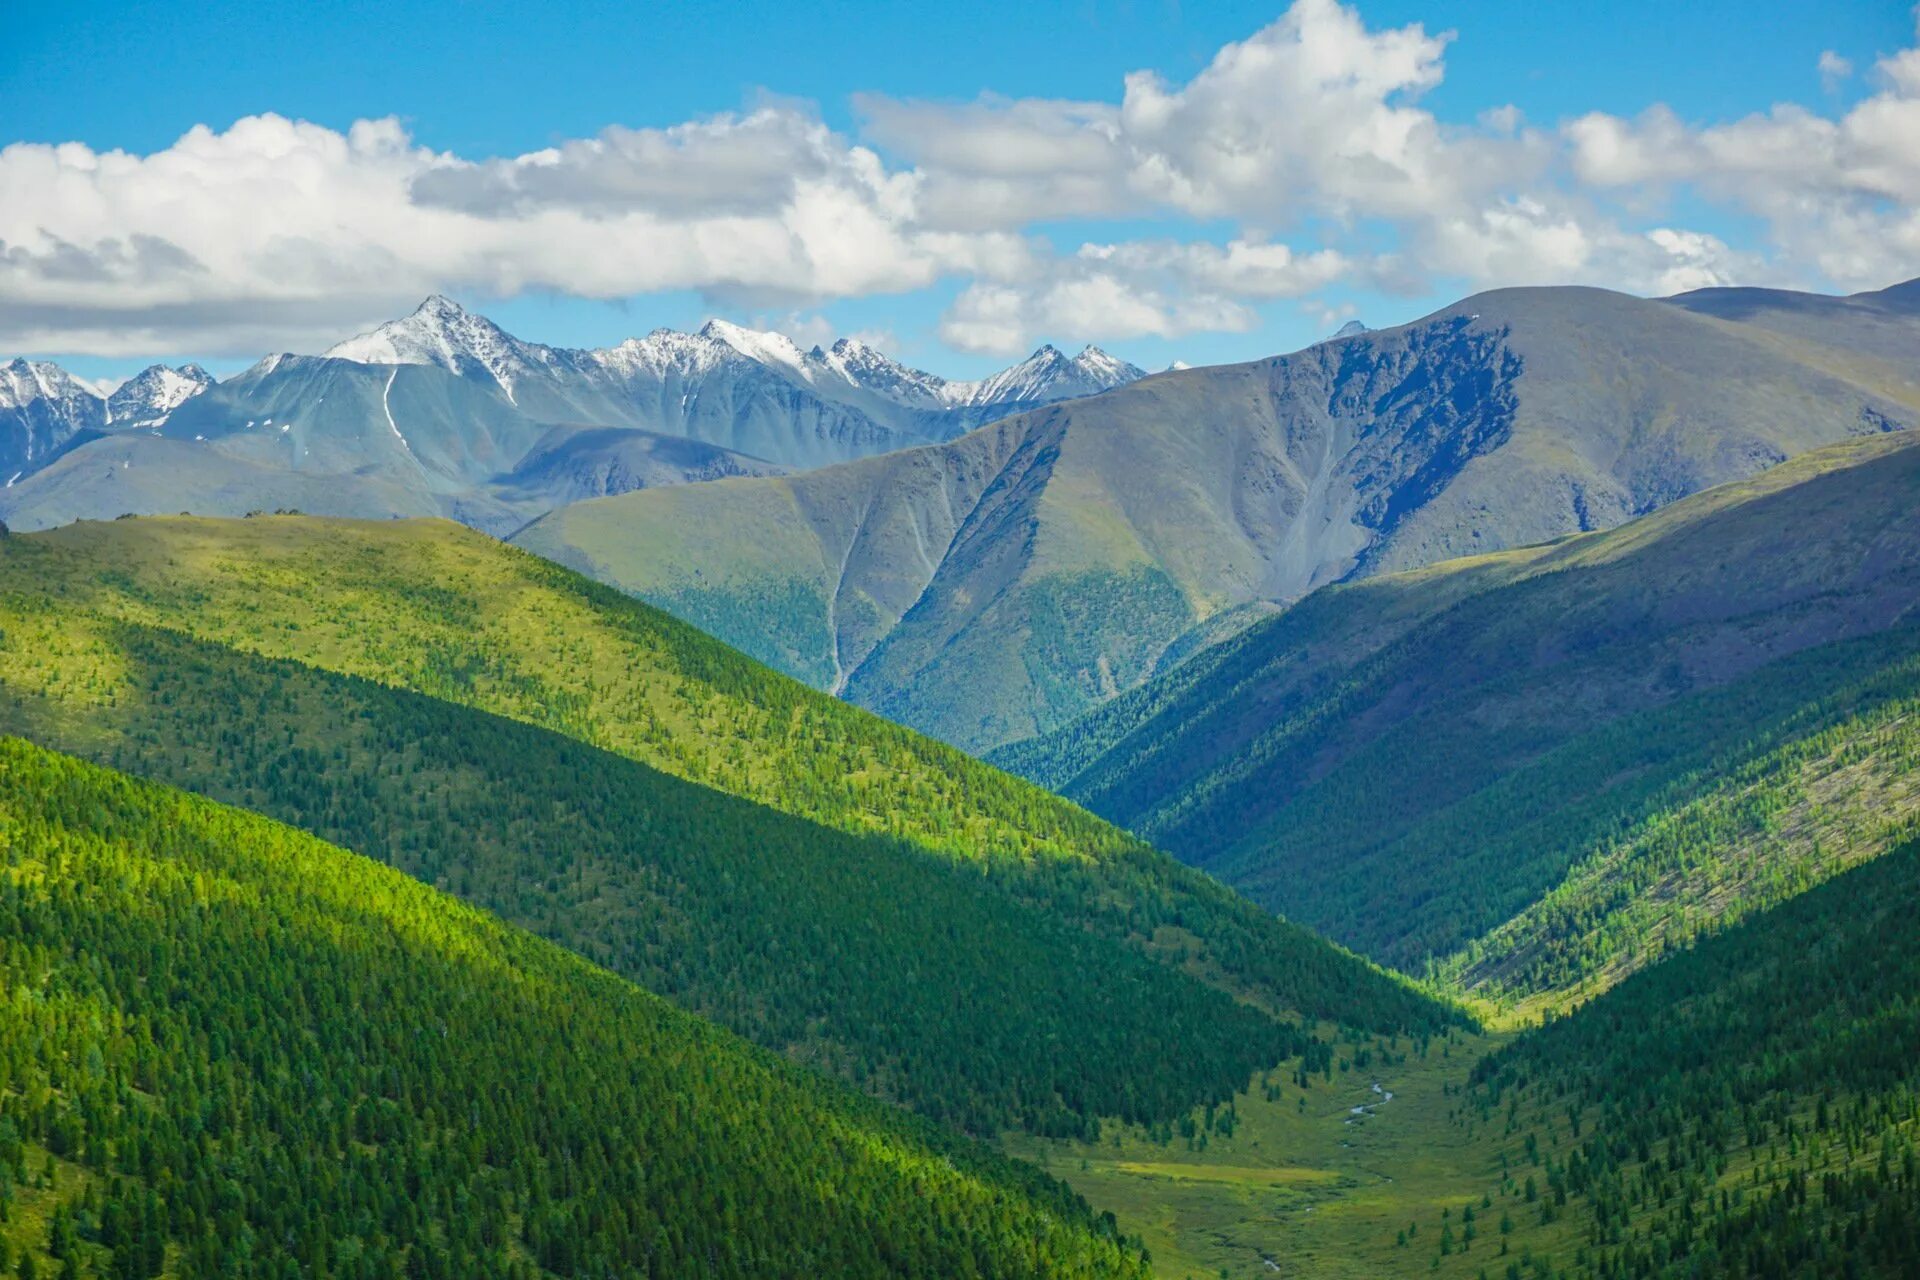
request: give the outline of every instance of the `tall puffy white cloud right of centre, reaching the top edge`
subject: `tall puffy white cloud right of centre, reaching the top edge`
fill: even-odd
[[[1125,77],[1117,106],[856,100],[881,146],[925,173],[924,217],[954,226],[1171,209],[1279,226],[1302,215],[1398,217],[1526,175],[1540,138],[1511,109],[1448,130],[1413,102],[1452,35],[1369,31],[1334,0],[1298,0],[1181,86]]]

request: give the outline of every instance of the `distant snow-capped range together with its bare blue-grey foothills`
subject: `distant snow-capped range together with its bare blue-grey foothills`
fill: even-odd
[[[111,405],[52,365],[8,368],[0,464],[15,487],[0,493],[0,516],[15,528],[182,509],[240,514],[298,495],[317,503],[303,510],[449,514],[495,533],[574,497],[943,441],[1140,376],[1092,347],[1073,359],[1043,347],[983,382],[948,382],[858,342],[801,351],[781,334],[724,320],[576,351],[522,342],[440,296],[324,357],[271,355],[217,386],[198,367],[154,367]],[[138,428],[200,445],[207,464],[144,439],[109,447],[90,436]],[[693,447],[647,443],[660,438]],[[609,457],[616,439],[620,457]],[[36,476],[63,449],[75,461]],[[589,457],[568,461],[564,449]],[[146,482],[129,484],[131,472]]]

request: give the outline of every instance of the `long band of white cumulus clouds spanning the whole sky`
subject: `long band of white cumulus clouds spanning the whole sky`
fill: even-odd
[[[394,119],[278,115],[150,155],[21,142],[0,150],[0,347],[311,349],[434,290],[699,290],[812,334],[828,299],[948,282],[943,340],[1016,351],[1244,330],[1275,299],[1325,311],[1334,282],[1672,292],[1920,271],[1920,48],[1880,59],[1837,115],[1693,123],[1653,104],[1540,125],[1428,109],[1453,38],[1296,0],[1185,83],[862,96],[852,136],[770,98],[507,157],[436,152]],[[1832,52],[1818,69],[1853,75]],[[1701,200],[1764,242],[1668,213]],[[1073,246],[1066,219],[1156,230]]]

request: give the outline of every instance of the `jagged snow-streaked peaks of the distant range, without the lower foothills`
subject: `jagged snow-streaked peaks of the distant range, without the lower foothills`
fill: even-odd
[[[405,367],[434,372],[399,372]],[[397,466],[407,484],[436,493],[495,484],[555,424],[651,432],[810,468],[952,439],[1139,376],[1098,347],[1068,359],[1046,345],[991,378],[948,382],[852,338],[803,349],[787,334],[720,319],[603,349],[549,347],[436,294],[324,357],[269,355],[221,384],[198,365],[152,365],[108,391],[56,365],[4,365],[0,486],[88,447],[92,436],[123,432],[219,439],[273,466]],[[278,445],[257,443],[269,439],[263,424]],[[394,439],[405,457],[386,457]],[[660,470],[662,457],[647,455],[649,476],[672,470]],[[639,474],[636,466],[622,461],[614,470]]]

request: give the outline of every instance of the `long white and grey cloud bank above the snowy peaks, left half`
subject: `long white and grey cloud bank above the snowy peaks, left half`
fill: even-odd
[[[265,334],[323,342],[442,288],[835,297],[922,288],[995,255],[916,228],[912,175],[793,109],[668,134],[492,165],[422,148],[390,119],[336,132],[259,115],[152,155],[13,144],[0,150],[0,340],[104,349],[169,322],[161,349],[255,351]],[[687,167],[649,165],[655,154]]]

